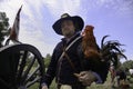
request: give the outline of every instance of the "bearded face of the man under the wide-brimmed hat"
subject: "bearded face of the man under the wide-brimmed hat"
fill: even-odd
[[[71,20],[64,20],[61,24],[62,34],[66,38],[70,38],[75,32],[75,27]]]

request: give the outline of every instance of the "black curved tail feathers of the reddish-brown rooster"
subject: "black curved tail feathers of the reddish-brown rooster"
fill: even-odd
[[[121,48],[121,44],[117,40],[104,41],[109,36],[104,36],[101,41],[100,52],[102,59],[106,62],[112,62],[114,68],[117,68],[119,61],[121,58],[127,60],[126,56],[123,53],[125,50]]]

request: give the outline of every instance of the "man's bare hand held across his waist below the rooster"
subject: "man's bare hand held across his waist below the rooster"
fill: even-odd
[[[96,80],[92,71],[81,71],[80,73],[74,73],[78,77],[79,81],[84,86],[90,86],[93,81]]]

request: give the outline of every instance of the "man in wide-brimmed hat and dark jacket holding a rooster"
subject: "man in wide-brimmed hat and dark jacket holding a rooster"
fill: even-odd
[[[93,81],[103,83],[106,79],[109,65],[102,62],[101,68],[91,70],[90,62],[84,59],[81,49],[84,22],[81,17],[61,16],[53,29],[58,34],[64,36],[53,51],[51,62],[42,80],[42,89],[48,89],[53,78],[58,89],[85,89]]]

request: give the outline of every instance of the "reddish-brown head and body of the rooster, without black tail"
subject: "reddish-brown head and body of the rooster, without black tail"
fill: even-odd
[[[84,31],[82,32],[82,50],[86,59],[98,62],[100,61],[101,56],[99,52],[95,37],[93,34],[93,26],[86,26]]]

